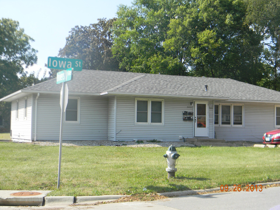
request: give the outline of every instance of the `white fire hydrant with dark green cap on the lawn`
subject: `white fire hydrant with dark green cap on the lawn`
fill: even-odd
[[[169,179],[170,177],[175,177],[175,171],[177,169],[175,168],[176,166],[176,160],[178,159],[180,155],[177,153],[175,146],[169,146],[166,154],[163,155],[163,157],[166,158],[167,162],[167,168],[165,171],[167,171],[167,178]]]

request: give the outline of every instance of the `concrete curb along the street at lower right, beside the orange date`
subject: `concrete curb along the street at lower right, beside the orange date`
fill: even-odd
[[[258,183],[258,184],[253,184],[253,185],[272,185],[272,184],[280,184],[280,181],[276,181],[276,182],[266,182],[266,183]],[[228,189],[232,189],[234,188],[233,186],[228,186]],[[197,195],[199,193],[211,193],[211,192],[215,192],[217,190],[220,190],[219,187],[217,188],[211,188],[211,189],[202,189],[202,190],[184,190],[184,191],[176,191],[176,192],[162,192],[162,193],[157,193],[157,195],[163,195],[166,197],[177,197],[177,196],[183,196],[183,195]]]

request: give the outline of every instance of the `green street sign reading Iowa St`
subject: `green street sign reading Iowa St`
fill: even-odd
[[[48,57],[48,68],[50,69],[69,69],[74,68],[74,71],[82,71],[83,60]]]

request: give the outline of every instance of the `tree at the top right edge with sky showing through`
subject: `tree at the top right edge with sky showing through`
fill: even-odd
[[[280,1],[247,0],[247,24],[262,37],[262,62],[268,69],[264,86],[280,91]]]

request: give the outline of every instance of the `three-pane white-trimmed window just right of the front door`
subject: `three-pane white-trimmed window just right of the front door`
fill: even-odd
[[[227,126],[243,126],[243,104],[215,104],[214,124]]]

